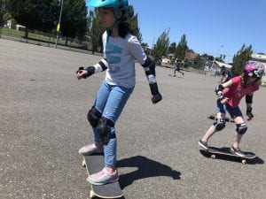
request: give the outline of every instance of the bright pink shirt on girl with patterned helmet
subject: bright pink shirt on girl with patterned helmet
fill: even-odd
[[[241,77],[237,76],[231,79],[232,85],[229,88],[225,88],[223,90],[223,95],[229,98],[229,105],[232,108],[235,108],[239,105],[240,100],[243,96],[246,96],[247,94],[253,93],[254,91],[258,90],[260,87],[259,85],[255,84],[248,84],[244,88],[241,85]]]

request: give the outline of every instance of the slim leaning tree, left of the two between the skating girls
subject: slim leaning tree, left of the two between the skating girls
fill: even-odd
[[[152,55],[154,57],[154,61],[157,65],[160,65],[160,59],[162,56],[166,55],[169,46],[169,31],[165,30],[160,37],[158,38],[157,42],[155,43],[152,51]]]

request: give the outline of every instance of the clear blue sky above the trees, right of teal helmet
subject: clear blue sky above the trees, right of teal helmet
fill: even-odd
[[[231,62],[243,44],[266,53],[265,0],[129,0],[138,25],[150,47],[170,28],[170,42],[186,34],[197,53],[225,54]]]

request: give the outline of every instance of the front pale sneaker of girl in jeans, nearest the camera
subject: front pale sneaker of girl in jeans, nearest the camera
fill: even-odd
[[[115,170],[113,173],[110,173],[106,171],[106,168],[104,168],[102,171],[90,175],[87,180],[92,185],[105,185],[107,183],[119,180],[119,176],[117,170]]]

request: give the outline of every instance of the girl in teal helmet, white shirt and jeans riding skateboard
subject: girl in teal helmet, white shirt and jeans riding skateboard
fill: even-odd
[[[117,141],[114,125],[135,87],[135,59],[144,67],[152,102],[158,103],[162,97],[156,83],[155,64],[145,55],[129,27],[128,0],[89,0],[89,6],[98,8],[99,19],[106,28],[102,36],[104,58],[96,65],[79,70],[76,78],[80,80],[102,71],[106,71],[106,78],[88,113],[93,143],[82,147],[79,153],[105,153],[105,167],[88,178],[91,184],[104,185],[119,178],[115,168]]]

